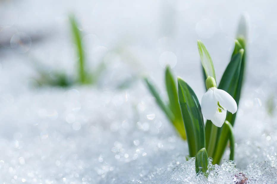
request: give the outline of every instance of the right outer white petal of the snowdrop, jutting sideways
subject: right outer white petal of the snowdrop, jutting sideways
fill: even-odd
[[[234,98],[222,89],[215,89],[215,97],[219,104],[232,114],[237,112],[237,103]]]

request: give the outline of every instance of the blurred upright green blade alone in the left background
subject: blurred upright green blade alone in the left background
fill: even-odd
[[[85,66],[84,66],[84,50],[82,47],[82,36],[81,36],[81,31],[78,29],[76,19],[74,15],[69,16],[69,21],[71,25],[71,30],[72,30],[72,35],[73,35],[73,40],[77,46],[77,56],[79,57],[78,64],[79,64],[79,81],[81,84],[86,83],[86,73],[85,73]]]

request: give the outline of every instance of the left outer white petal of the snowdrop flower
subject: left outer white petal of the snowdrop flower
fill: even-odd
[[[217,108],[218,106],[215,94],[212,89],[208,89],[201,100],[202,114],[206,119],[211,119],[215,115]]]

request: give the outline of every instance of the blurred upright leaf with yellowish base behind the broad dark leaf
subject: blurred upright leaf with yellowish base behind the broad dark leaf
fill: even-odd
[[[186,139],[185,126],[182,119],[181,109],[179,105],[177,87],[174,81],[174,77],[171,73],[170,66],[166,66],[166,90],[169,98],[169,108],[171,112],[174,114],[173,124],[180,136],[183,139]]]

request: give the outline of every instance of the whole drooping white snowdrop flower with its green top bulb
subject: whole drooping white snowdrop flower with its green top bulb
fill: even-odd
[[[211,120],[217,127],[221,127],[226,119],[227,110],[234,114],[237,112],[237,103],[234,98],[226,91],[216,88],[215,79],[208,77],[206,79],[208,91],[201,100],[201,109],[203,116]]]

